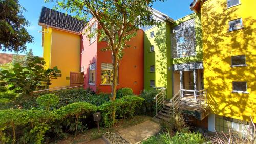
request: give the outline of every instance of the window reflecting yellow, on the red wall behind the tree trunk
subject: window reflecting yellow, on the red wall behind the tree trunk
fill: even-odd
[[[101,84],[112,84],[112,83],[113,83],[112,63],[101,63]]]

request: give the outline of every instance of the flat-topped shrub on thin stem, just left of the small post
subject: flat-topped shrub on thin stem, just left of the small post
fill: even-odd
[[[76,102],[73,104],[68,104],[67,106],[63,106],[55,111],[58,119],[65,119],[67,117],[75,116],[75,135],[77,134],[78,125],[81,124],[79,121],[80,118],[85,118],[83,115],[88,115],[97,110],[97,106],[86,102]]]

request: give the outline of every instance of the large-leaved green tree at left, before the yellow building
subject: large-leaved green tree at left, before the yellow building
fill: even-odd
[[[9,90],[15,93],[32,95],[34,90],[48,88],[51,80],[57,79],[57,74],[61,73],[57,66],[45,70],[44,59],[37,56],[28,58],[26,62],[26,65],[15,63],[13,68],[0,71],[0,84],[8,84]]]

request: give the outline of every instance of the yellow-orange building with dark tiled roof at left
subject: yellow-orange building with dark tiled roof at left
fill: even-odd
[[[42,26],[45,68],[57,66],[61,70],[61,76],[52,81],[50,88],[69,86],[70,73],[80,71],[81,31],[85,23],[43,7],[38,24]]]

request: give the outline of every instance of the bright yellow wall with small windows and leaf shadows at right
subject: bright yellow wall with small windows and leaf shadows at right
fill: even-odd
[[[240,0],[232,8],[226,0],[209,0],[201,8],[204,85],[208,102],[218,115],[256,122],[256,24],[254,0]],[[243,29],[228,32],[228,21],[242,18]],[[246,55],[247,67],[231,68],[231,56]],[[246,81],[249,94],[232,93],[233,81]]]

